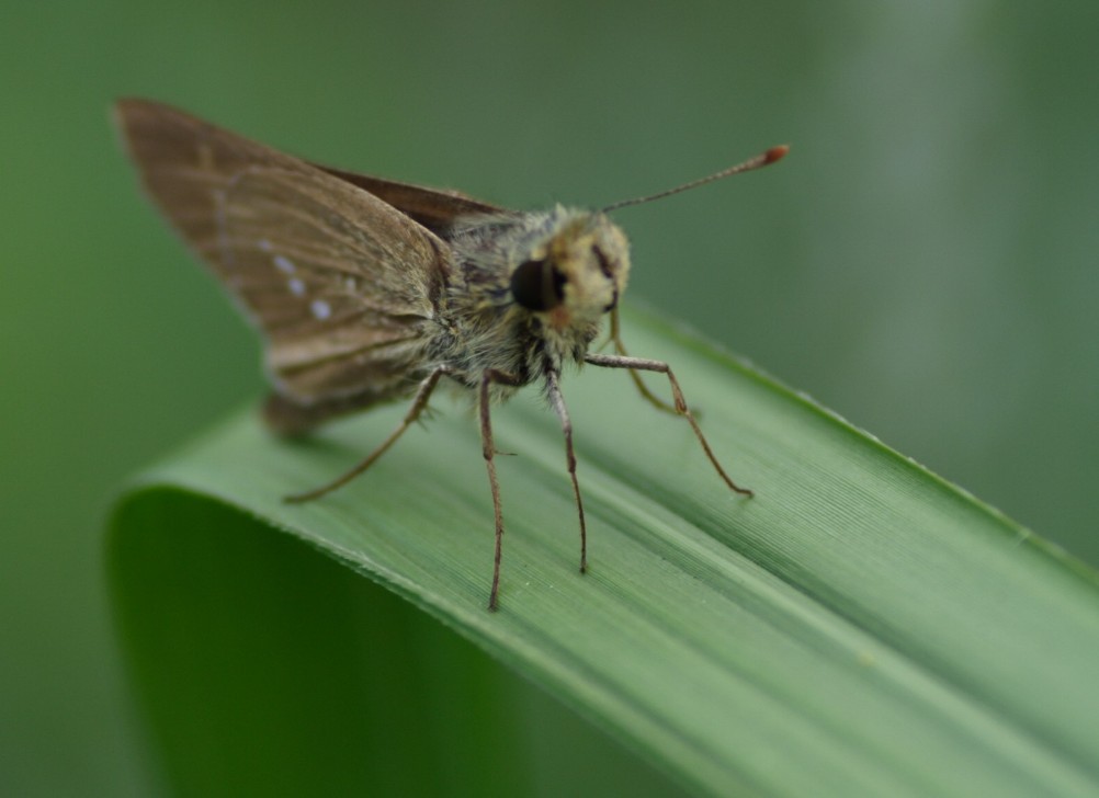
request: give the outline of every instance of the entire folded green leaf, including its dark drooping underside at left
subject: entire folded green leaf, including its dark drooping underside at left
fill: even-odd
[[[491,499],[464,409],[307,505],[280,496],[352,465],[403,408],[304,442],[248,412],[142,477],[110,562],[173,790],[674,789],[651,764],[711,795],[1099,793],[1091,571],[696,338],[626,322],[632,353],[673,364],[755,498],[626,374],[588,368],[564,385],[581,575],[560,432],[529,391],[493,414],[518,454],[497,461],[495,614]],[[636,758],[547,720],[510,672]]]

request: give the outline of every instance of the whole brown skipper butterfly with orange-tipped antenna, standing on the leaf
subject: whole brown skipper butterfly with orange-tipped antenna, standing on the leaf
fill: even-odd
[[[602,210],[503,209],[431,189],[320,166],[168,105],[124,99],[115,121],[141,182],[171,226],[260,333],[273,391],[264,407],[282,435],[375,405],[411,400],[392,432],[332,482],[288,496],[319,498],[373,465],[424,412],[444,379],[474,397],[496,522],[489,609],[500,591],[503,515],[491,407],[536,383],[556,414],[587,570],[587,526],[566,366],[629,371],[642,395],[689,423],[734,492],[670,367],[630,357],[618,310],[629,243],[609,212],[773,164],[774,147],[701,180]],[[591,351],[603,318],[614,353]],[[664,374],[673,403],[639,372]]]

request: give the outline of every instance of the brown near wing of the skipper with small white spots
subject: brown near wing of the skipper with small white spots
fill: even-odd
[[[175,109],[123,100],[116,115],[149,194],[267,338],[285,401],[313,423],[414,387],[442,239],[343,176]]]

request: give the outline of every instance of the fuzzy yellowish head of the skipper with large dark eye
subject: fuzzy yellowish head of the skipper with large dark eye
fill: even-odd
[[[556,209],[511,274],[511,294],[562,329],[598,323],[618,305],[630,245],[602,213]]]

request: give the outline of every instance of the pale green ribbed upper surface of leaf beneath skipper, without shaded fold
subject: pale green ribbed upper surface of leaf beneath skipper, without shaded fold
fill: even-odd
[[[1095,575],[771,380],[629,321],[631,349],[673,364],[755,498],[724,487],[682,419],[588,368],[564,385],[587,575],[555,419],[522,398],[493,415],[497,446],[519,454],[498,460],[499,612],[485,610],[491,501],[460,412],[302,506],[279,497],[349,467],[402,408],[298,445],[235,419],[145,476],[113,555],[147,533],[125,520],[143,495],[238,507],[411,599],[699,791],[1099,790]],[[118,582],[125,615],[142,588]],[[155,671],[159,657],[143,657]]]

